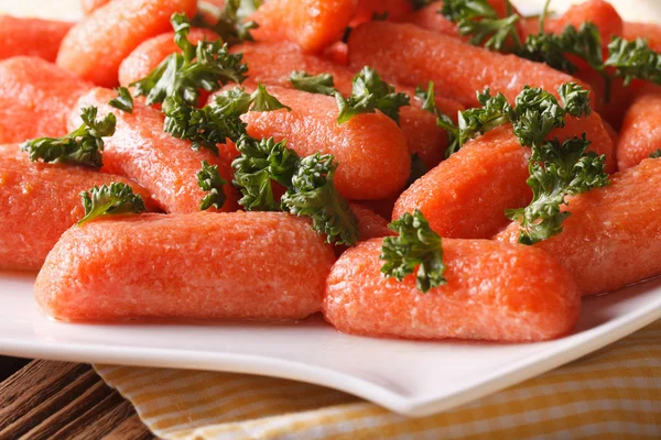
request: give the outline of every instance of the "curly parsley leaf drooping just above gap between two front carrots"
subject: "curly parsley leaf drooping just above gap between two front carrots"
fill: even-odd
[[[333,161],[333,155],[319,153],[302,158],[281,204],[294,216],[310,217],[312,229],[325,234],[327,243],[350,246],[358,241],[358,220],[335,188]]]

